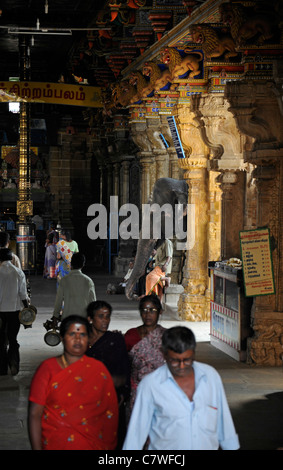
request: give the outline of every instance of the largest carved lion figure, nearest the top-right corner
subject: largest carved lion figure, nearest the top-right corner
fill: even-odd
[[[270,11],[251,12],[238,3],[223,3],[219,12],[221,21],[230,25],[231,35],[237,47],[244,46],[252,38],[256,38],[256,43],[262,45],[276,33],[275,17]]]

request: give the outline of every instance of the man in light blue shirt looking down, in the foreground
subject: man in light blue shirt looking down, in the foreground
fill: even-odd
[[[186,327],[165,331],[166,364],[145,376],[123,450],[237,450],[236,434],[221,378],[194,361],[196,341]]]

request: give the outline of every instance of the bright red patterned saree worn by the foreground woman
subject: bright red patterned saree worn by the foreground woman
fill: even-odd
[[[117,395],[100,361],[83,356],[61,369],[56,358],[47,359],[34,375],[29,400],[44,405],[43,450],[115,449]]]

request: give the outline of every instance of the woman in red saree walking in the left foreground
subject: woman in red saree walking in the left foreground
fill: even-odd
[[[37,369],[29,395],[33,450],[113,450],[118,403],[110,373],[87,357],[89,324],[78,316],[60,326],[62,356]]]

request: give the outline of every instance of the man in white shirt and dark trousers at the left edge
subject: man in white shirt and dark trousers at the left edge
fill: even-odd
[[[26,277],[12,264],[12,255],[8,248],[0,250],[0,375],[8,373],[8,365],[12,375],[19,372],[19,312],[28,307]]]

